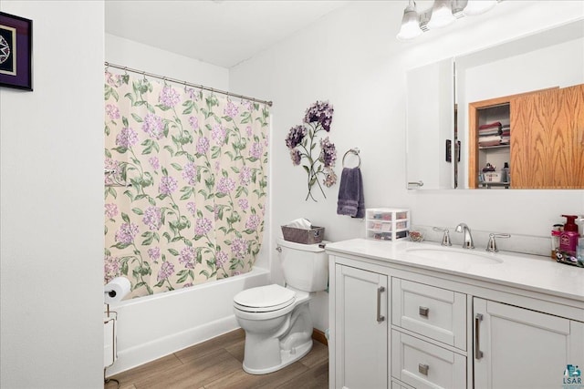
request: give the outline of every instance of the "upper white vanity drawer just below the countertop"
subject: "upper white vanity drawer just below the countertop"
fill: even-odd
[[[393,325],[466,350],[466,295],[392,279]]]

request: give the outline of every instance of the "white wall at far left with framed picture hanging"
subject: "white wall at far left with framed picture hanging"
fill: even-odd
[[[103,1],[11,1],[34,92],[0,88],[0,387],[103,387]]]

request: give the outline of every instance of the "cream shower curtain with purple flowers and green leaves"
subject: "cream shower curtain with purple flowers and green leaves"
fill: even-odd
[[[251,270],[266,212],[268,110],[106,72],[105,282],[131,297]]]

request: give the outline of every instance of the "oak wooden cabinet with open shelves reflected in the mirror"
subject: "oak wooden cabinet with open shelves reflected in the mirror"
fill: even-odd
[[[584,189],[584,85],[471,103],[469,120],[469,188]],[[479,143],[489,123],[508,124],[510,140]],[[497,171],[508,160],[508,182],[482,180],[489,159]]]

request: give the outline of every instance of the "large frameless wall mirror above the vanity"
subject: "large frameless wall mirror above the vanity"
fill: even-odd
[[[408,189],[584,189],[584,21],[407,74]]]

